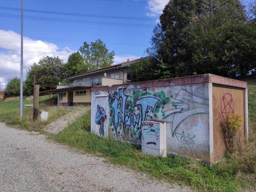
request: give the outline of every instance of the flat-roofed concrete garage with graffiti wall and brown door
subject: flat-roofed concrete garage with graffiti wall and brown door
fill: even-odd
[[[91,89],[91,131],[167,154],[209,163],[225,154],[221,122],[238,114],[236,141],[248,138],[247,82],[212,74],[101,86]],[[155,122],[165,121],[161,136]],[[146,126],[144,126],[146,125]],[[153,150],[151,150],[153,151]],[[155,151],[155,150],[154,150]]]

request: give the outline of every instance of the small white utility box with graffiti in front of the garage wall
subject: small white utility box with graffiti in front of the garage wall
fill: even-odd
[[[142,153],[166,157],[166,146],[166,121],[143,121]]]

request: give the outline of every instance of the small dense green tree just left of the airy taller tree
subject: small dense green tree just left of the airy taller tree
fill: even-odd
[[[64,73],[66,77],[79,73],[77,66],[83,66],[84,60],[79,52],[73,52],[69,55],[67,63],[64,64]]]

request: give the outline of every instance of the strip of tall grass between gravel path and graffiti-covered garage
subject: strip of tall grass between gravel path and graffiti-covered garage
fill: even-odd
[[[111,163],[127,166],[171,183],[192,186],[199,191],[241,191],[252,187],[247,180],[241,179],[244,175],[239,172],[241,162],[236,157],[227,157],[221,163],[207,166],[193,158],[147,156],[141,153],[137,145],[91,134],[90,113],[81,116],[58,135],[49,136],[49,139],[108,157]]]

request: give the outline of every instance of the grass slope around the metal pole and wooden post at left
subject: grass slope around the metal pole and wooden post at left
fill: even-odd
[[[40,96],[40,102],[46,101],[49,96]],[[23,99],[23,104],[32,104],[32,97]],[[72,110],[69,108],[46,108],[44,105],[39,106],[40,109],[48,111],[48,121],[36,120],[32,121],[32,108],[23,108],[23,117],[20,118],[20,102],[18,97],[8,98],[0,101],[0,122],[12,125],[17,128],[29,131],[42,131],[45,125],[58,119]]]

